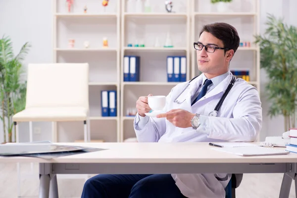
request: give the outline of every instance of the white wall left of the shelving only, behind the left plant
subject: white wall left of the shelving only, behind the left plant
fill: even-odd
[[[51,4],[51,0],[0,0],[0,37],[5,34],[11,38],[15,54],[26,42],[32,45],[24,61],[25,66],[29,62],[52,62]],[[50,123],[34,123],[34,126],[36,125],[41,125],[43,132],[49,134]],[[29,141],[28,128],[28,123],[21,123],[20,138],[23,141]],[[2,123],[0,123],[0,132],[2,132]],[[0,142],[2,142],[3,135],[0,134]],[[44,138],[50,137],[49,135]]]

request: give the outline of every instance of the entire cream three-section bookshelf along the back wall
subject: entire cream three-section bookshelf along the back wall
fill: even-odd
[[[206,23],[230,23],[243,41],[250,42],[250,47],[240,47],[235,53],[230,70],[249,70],[249,84],[260,91],[260,51],[252,44],[253,35],[259,33],[259,0],[233,0],[225,11],[210,0],[175,0],[171,13],[159,0],[149,0],[148,12],[145,7],[139,11],[137,5],[131,11],[131,1],[109,1],[104,10],[101,1],[74,0],[68,13],[65,0],[53,0],[53,61],[90,65],[88,126],[92,141],[123,142],[135,137],[134,116],[128,113],[137,99],[148,94],[167,95],[179,83],[167,82],[167,56],[186,56],[187,80],[199,74],[193,42],[198,41],[198,33]],[[173,48],[163,47],[168,33]],[[102,48],[104,37],[108,38],[108,48]],[[70,38],[75,39],[74,48],[67,46]],[[89,48],[84,48],[86,40]],[[123,60],[129,55],[141,58],[139,82],[124,81]],[[116,117],[101,116],[101,90],[117,91]]]

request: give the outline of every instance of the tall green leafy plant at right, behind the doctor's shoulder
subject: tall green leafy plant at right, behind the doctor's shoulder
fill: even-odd
[[[297,109],[297,28],[268,14],[263,36],[255,36],[260,47],[261,68],[268,76],[266,96],[270,117],[283,115],[285,131],[295,128]]]

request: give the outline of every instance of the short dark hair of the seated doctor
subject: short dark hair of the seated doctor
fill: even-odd
[[[209,32],[214,37],[223,42],[223,48],[233,49],[234,53],[239,47],[240,38],[238,36],[237,30],[228,23],[211,23],[204,25],[199,37],[201,36],[202,32]]]

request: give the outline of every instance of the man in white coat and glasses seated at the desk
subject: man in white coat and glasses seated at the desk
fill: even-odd
[[[191,82],[175,86],[165,112],[148,117],[148,97],[136,102],[138,142],[252,142],[262,127],[256,88],[229,71],[239,47],[237,30],[226,23],[205,25],[198,42],[198,69]],[[89,179],[82,198],[225,198],[231,174],[98,175]]]

